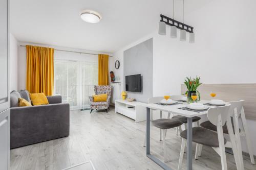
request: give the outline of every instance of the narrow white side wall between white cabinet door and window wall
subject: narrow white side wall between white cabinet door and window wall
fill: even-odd
[[[18,42],[10,33],[10,88],[18,89]]]

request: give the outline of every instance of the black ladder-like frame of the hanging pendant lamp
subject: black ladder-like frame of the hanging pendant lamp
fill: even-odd
[[[160,21],[165,22],[166,25],[175,26],[180,30],[185,30],[186,32],[193,33],[193,27],[186,25],[185,23],[179,22],[175,19],[169,18],[164,15],[160,15]]]

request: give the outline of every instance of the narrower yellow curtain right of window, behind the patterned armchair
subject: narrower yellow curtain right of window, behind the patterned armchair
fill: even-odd
[[[109,85],[109,55],[99,54],[99,85]]]

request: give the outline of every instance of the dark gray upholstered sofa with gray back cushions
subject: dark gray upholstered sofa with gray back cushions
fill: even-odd
[[[11,92],[11,149],[69,136],[69,104],[47,96],[49,105],[18,107],[18,98],[31,103],[27,90]]]

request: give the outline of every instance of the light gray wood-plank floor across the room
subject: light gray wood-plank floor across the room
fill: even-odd
[[[28,145],[11,150],[11,169],[62,169],[91,160],[100,169],[161,169],[145,156],[142,147],[145,122],[114,112],[71,111],[70,136]],[[181,138],[168,130],[168,166],[176,169],[179,161]],[[152,127],[151,152],[163,159],[159,129]],[[193,147],[195,153],[195,145]],[[228,169],[236,169],[234,158],[227,154]],[[244,157],[245,169],[256,169]],[[183,160],[186,169],[186,154]],[[209,147],[203,147],[202,157],[193,161],[193,169],[221,169],[220,157]],[[86,169],[85,169],[86,170]]]

